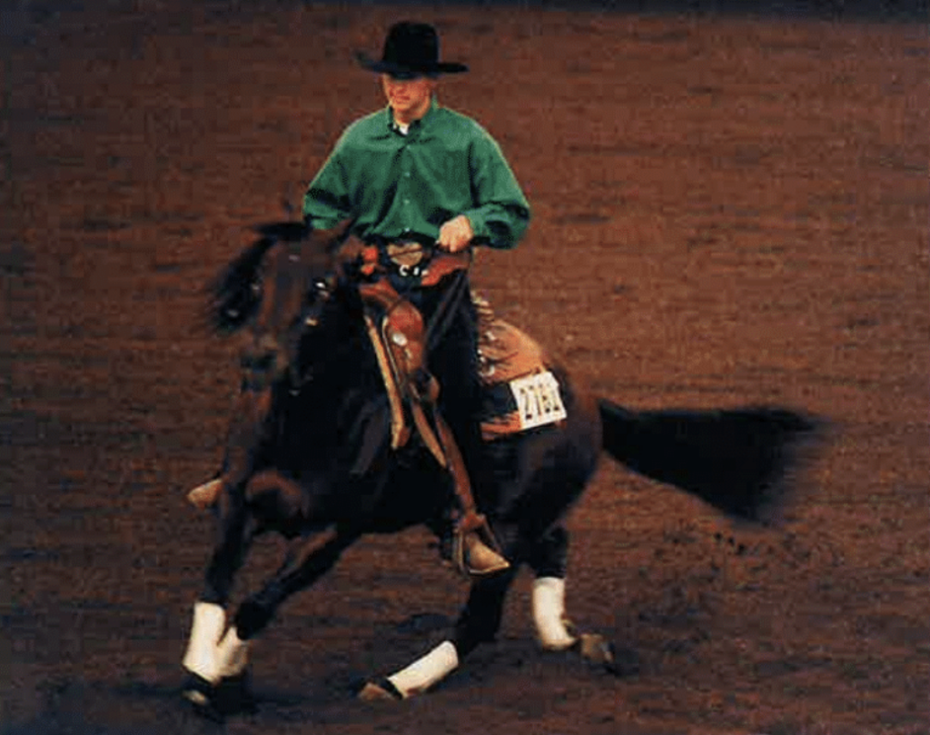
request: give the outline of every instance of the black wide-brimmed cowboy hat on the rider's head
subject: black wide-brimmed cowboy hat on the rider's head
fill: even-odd
[[[355,53],[355,58],[369,72],[391,74],[399,78],[468,71],[465,64],[439,60],[439,36],[432,25],[408,20],[391,26],[380,61],[369,58],[361,51]]]

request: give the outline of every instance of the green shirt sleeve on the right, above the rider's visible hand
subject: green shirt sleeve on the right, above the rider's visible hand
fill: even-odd
[[[475,243],[500,249],[515,247],[529,225],[530,209],[496,140],[483,135],[472,142],[472,200],[462,212],[472,223]]]

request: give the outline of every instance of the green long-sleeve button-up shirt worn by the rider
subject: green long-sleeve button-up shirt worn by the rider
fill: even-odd
[[[472,119],[432,101],[407,134],[390,108],[354,122],[310,183],[303,213],[312,226],[353,218],[363,239],[436,237],[460,214],[474,242],[513,247],[529,223],[529,205],[497,142]]]

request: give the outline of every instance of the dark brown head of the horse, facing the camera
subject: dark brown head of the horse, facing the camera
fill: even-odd
[[[262,257],[250,283],[255,303],[242,355],[247,380],[255,387],[297,367],[300,338],[318,325],[336,289],[347,230],[348,223],[315,231],[298,222],[256,228],[262,237],[250,249],[258,248]]]

